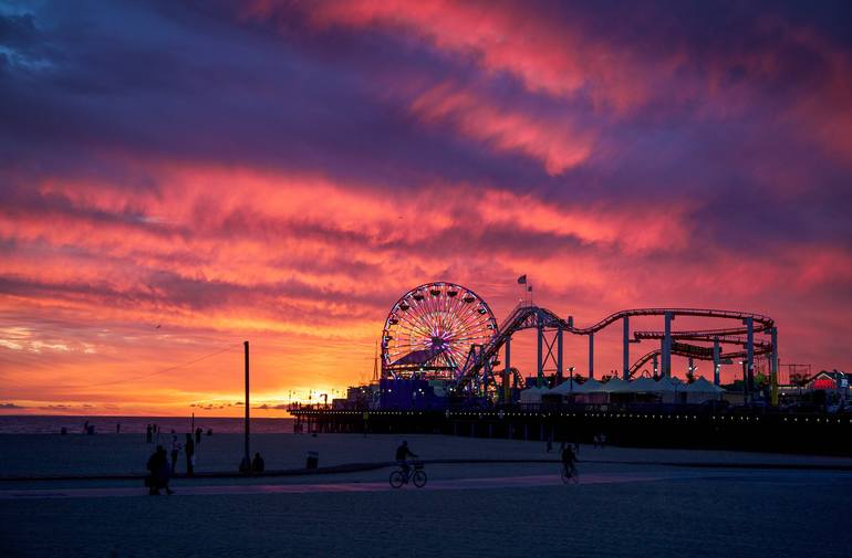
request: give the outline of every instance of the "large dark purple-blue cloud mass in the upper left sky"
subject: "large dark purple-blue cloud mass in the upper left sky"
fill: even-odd
[[[42,34],[29,39],[55,53],[41,72],[10,71],[0,88],[8,160],[38,152],[42,171],[52,162],[56,171],[85,175],[92,156],[132,154],[323,168],[385,182],[415,180],[412,168],[438,166],[456,179],[474,178],[470,159],[472,167],[495,164],[417,133],[405,103],[375,98],[361,67],[297,52],[232,21],[190,17],[179,6],[172,11],[183,18],[160,10],[83,4],[18,17],[29,25],[43,20]]]

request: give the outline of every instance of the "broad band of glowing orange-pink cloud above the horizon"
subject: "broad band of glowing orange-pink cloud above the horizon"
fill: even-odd
[[[176,193],[49,180],[41,196],[62,203],[0,210],[0,239],[28,248],[0,269],[1,399],[185,413],[188,402],[239,394],[243,338],[257,346],[258,397],[342,388],[370,376],[396,297],[438,278],[480,291],[502,316],[517,298],[513,277],[528,273],[537,299],[583,323],[638,302],[768,312],[768,288],[787,278],[791,293],[838,273],[852,281],[846,267],[817,271],[842,251],[807,246],[778,264],[707,248],[685,265],[666,256],[696,248],[692,207],[674,199],[570,203],[465,183],[388,196],[247,168],[149,172]],[[636,227],[648,214],[665,219]],[[144,377],[224,345],[237,348]]]

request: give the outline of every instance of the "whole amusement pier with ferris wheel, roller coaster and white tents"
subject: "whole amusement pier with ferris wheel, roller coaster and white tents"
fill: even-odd
[[[631,328],[631,318],[648,316],[659,329]],[[682,316],[718,327],[678,329]],[[607,327],[621,328],[622,369],[595,377],[595,335]],[[528,329],[536,373],[524,377],[512,366],[512,338]],[[565,368],[567,335],[588,340],[586,373]],[[653,349],[632,360],[631,345],[641,343]],[[672,373],[673,355],[687,359],[685,380]],[[768,373],[756,375],[758,359]],[[579,327],[524,298],[498,322],[470,288],[435,282],[391,307],[378,360],[373,381],[345,399],[290,406],[294,429],[852,454],[852,415],[842,412],[850,378],[779,383],[778,326],[750,312],[633,308]],[[696,361],[711,362],[711,381],[695,373]],[[742,370],[736,391],[720,380],[721,366],[734,364]]]

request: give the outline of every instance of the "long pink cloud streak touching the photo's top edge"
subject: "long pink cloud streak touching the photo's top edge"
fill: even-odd
[[[253,17],[276,11],[274,3],[253,6]],[[311,17],[318,25],[380,25],[413,32],[437,49],[470,55],[490,72],[508,72],[532,92],[589,93],[617,109],[648,97],[653,81],[648,70],[667,74],[680,60],[673,53],[648,69],[637,64],[631,50],[613,49],[570,22],[550,19],[522,3],[359,0],[315,4]]]

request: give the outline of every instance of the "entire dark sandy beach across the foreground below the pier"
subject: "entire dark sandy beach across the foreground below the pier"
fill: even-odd
[[[252,451],[269,470],[303,467],[308,451],[319,452],[320,466],[376,463],[391,461],[401,439],[261,434]],[[427,462],[518,462],[427,464],[422,489],[389,488],[385,466],[176,478],[174,496],[149,497],[138,480],[8,480],[142,474],[153,449],[144,436],[0,436],[4,556],[828,557],[848,550],[840,538],[811,541],[824,529],[848,527],[852,460],[582,446],[581,482],[565,486],[555,452],[540,442],[406,440]],[[205,438],[198,471],[236,470],[241,443],[237,434]],[[763,468],[780,465],[801,468]],[[648,537],[650,529],[666,536]]]

